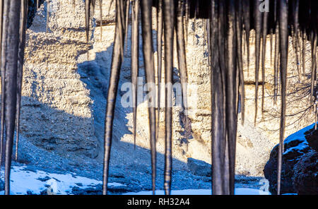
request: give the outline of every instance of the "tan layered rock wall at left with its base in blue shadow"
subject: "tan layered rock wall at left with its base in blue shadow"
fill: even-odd
[[[86,52],[84,4],[52,1],[49,31],[41,6],[27,30],[20,133],[35,145],[64,155],[96,157],[89,90],[77,73],[76,57]]]

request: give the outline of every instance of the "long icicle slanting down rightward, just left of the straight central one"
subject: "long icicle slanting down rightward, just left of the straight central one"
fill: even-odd
[[[152,2],[141,0],[141,23],[143,37],[143,61],[145,62],[146,82],[149,92],[155,90],[155,68],[153,62],[153,34],[152,34]],[[156,176],[156,151],[155,151],[155,94],[148,98],[148,112],[151,141],[151,169],[152,169],[152,189],[155,194]]]

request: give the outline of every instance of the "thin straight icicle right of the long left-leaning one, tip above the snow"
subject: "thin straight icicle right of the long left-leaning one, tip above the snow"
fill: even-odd
[[[136,148],[137,126],[137,85],[139,71],[139,0],[133,0],[131,5],[131,83],[133,85],[132,106],[134,124],[134,148]]]

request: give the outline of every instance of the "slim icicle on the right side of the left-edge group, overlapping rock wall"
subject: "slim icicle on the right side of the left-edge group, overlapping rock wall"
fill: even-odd
[[[18,52],[17,95],[16,95],[16,161],[18,160],[18,143],[20,132],[20,108],[23,78],[23,61],[25,48],[25,26],[28,17],[28,0],[21,0],[20,42]]]

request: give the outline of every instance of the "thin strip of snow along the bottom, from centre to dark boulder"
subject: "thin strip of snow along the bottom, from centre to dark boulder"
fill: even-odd
[[[152,195],[153,191],[140,191],[140,192],[129,192],[123,193],[123,195]],[[163,195],[163,190],[155,191],[156,195]],[[211,189],[184,189],[184,190],[172,190],[172,195],[211,195]],[[259,189],[249,188],[236,188],[235,195],[270,195],[271,193],[261,191]]]

